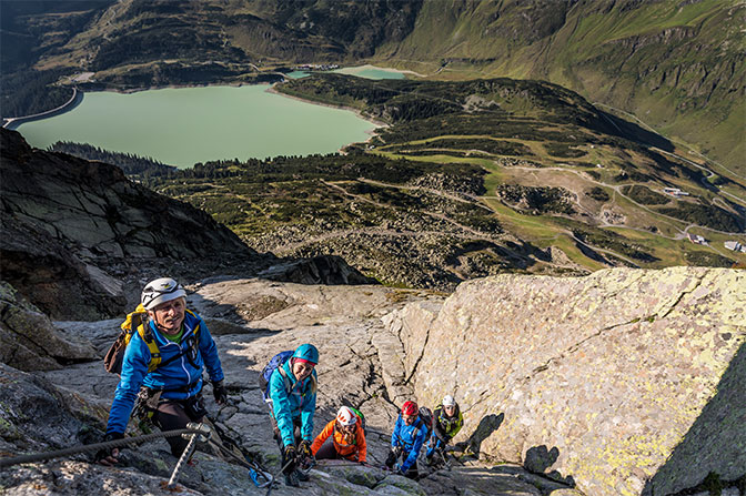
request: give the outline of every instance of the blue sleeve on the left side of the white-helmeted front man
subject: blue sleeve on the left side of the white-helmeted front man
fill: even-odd
[[[122,360],[122,374],[117,385],[114,399],[109,411],[109,423],[107,433],[124,433],[127,424],[130,422],[134,401],[138,398],[142,379],[148,374],[150,364],[150,350],[148,345],[134,333],[130,344],[124,351]]]

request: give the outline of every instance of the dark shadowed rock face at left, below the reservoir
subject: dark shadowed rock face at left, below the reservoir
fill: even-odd
[[[255,256],[206,213],[113,165],[32,149],[6,129],[0,140],[2,279],[52,317],[118,314],[120,277],[142,264]]]

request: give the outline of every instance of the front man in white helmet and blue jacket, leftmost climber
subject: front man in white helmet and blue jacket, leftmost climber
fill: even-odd
[[[215,342],[204,321],[186,310],[185,296],[184,287],[170,277],[152,281],[143,290],[139,310],[147,312],[148,317],[142,328],[132,333],[124,351],[104,441],[124,437],[138,395],[142,402],[143,393],[148,401],[142,407],[150,409],[153,424],[161,431],[202,422],[206,414],[202,398],[205,367],[215,402],[226,402],[228,391]],[[154,356],[159,354],[160,360]],[[167,441],[174,456],[180,456],[188,443],[181,437]],[[103,465],[113,465],[118,456],[119,449],[114,448],[99,452],[97,459]]]

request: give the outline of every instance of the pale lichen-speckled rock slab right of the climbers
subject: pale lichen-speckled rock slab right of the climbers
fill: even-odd
[[[470,446],[594,495],[746,474],[746,272],[467,282],[386,317],[417,398],[455,394]]]

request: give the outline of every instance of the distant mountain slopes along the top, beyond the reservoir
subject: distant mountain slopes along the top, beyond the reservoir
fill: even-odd
[[[36,13],[13,29],[26,22],[39,37],[27,54],[37,69],[93,70],[117,84],[169,84],[175,69],[181,81],[184,62],[200,82],[361,60],[436,79],[544,79],[744,173],[745,21],[736,0],[124,0],[89,14]],[[53,42],[40,26],[54,28]]]

